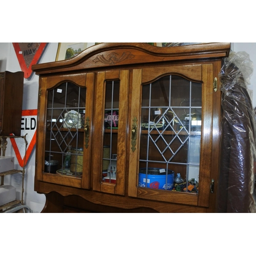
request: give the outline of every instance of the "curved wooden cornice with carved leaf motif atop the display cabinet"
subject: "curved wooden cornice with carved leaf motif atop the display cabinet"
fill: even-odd
[[[110,42],[89,47],[71,59],[33,65],[32,70],[36,74],[44,74],[136,63],[217,58],[228,56],[229,49],[229,42],[176,47],[156,47],[140,42]]]

